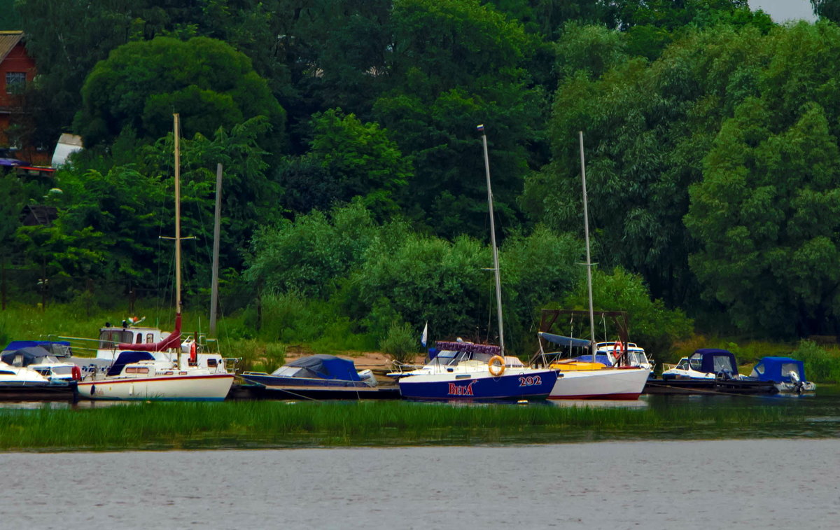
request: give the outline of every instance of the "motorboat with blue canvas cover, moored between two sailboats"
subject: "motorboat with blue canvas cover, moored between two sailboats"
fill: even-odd
[[[380,388],[373,372],[356,370],[352,360],[335,355],[308,355],[270,374],[244,372],[239,377],[254,386],[255,397],[273,399],[396,399],[396,386]]]

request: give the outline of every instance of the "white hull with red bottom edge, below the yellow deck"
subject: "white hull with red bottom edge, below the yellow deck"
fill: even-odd
[[[650,372],[643,368],[605,368],[561,372],[549,399],[634,400]]]

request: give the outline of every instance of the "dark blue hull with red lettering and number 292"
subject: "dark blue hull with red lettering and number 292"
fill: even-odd
[[[555,370],[487,374],[409,375],[399,381],[402,397],[420,401],[507,401],[545,399],[557,382]]]

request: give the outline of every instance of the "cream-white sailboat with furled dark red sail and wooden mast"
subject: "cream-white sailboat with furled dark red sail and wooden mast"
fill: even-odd
[[[123,349],[108,372],[95,370],[78,383],[79,396],[94,400],[223,401],[234,375],[223,366],[198,365],[193,348],[189,359],[181,353],[181,188],[178,115],[175,115],[175,329],[159,343],[119,344]],[[171,349],[170,359],[160,349]]]

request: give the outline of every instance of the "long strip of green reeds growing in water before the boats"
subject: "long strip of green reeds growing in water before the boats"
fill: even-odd
[[[731,438],[804,420],[785,407],[453,407],[410,402],[138,403],[0,409],[0,449],[109,450]],[[690,435],[688,434],[690,433]]]

